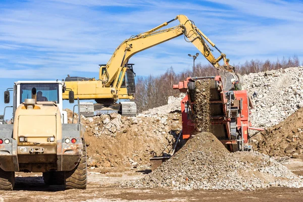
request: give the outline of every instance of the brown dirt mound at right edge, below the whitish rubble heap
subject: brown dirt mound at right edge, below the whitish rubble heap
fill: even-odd
[[[252,140],[256,150],[270,156],[300,155],[303,150],[303,108]]]

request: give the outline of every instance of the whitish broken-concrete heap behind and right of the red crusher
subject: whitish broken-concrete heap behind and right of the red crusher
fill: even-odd
[[[303,107],[303,67],[251,73],[242,85],[252,96],[251,122],[257,127],[276,125]]]

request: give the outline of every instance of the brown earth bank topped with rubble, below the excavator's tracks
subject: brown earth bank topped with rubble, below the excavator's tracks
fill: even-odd
[[[70,110],[66,111],[69,116],[72,115]],[[177,113],[138,118],[119,114],[89,118],[81,116],[81,122],[86,127],[88,166],[149,166],[149,158],[154,152],[157,155],[171,152],[172,144],[182,128],[179,117]]]

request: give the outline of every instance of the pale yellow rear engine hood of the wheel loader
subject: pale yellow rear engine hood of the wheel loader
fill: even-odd
[[[56,145],[62,138],[61,113],[54,102],[23,103],[14,121],[13,137],[18,145]]]

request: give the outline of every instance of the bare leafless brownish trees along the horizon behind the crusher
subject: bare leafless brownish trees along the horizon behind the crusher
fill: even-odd
[[[268,70],[285,69],[288,67],[298,67],[300,61],[297,56],[282,60],[277,59],[275,62],[270,60],[250,60],[244,64],[233,65],[237,73],[249,74],[258,73]],[[173,84],[178,84],[190,76],[216,76],[217,70],[211,65],[196,64],[191,69],[184,69],[180,73],[175,73],[173,68],[167,69],[164,74],[147,77],[138,76],[136,78],[135,103],[137,111],[142,112],[151,108],[160,107],[167,104],[168,97],[178,95],[179,90],[173,89]]]

